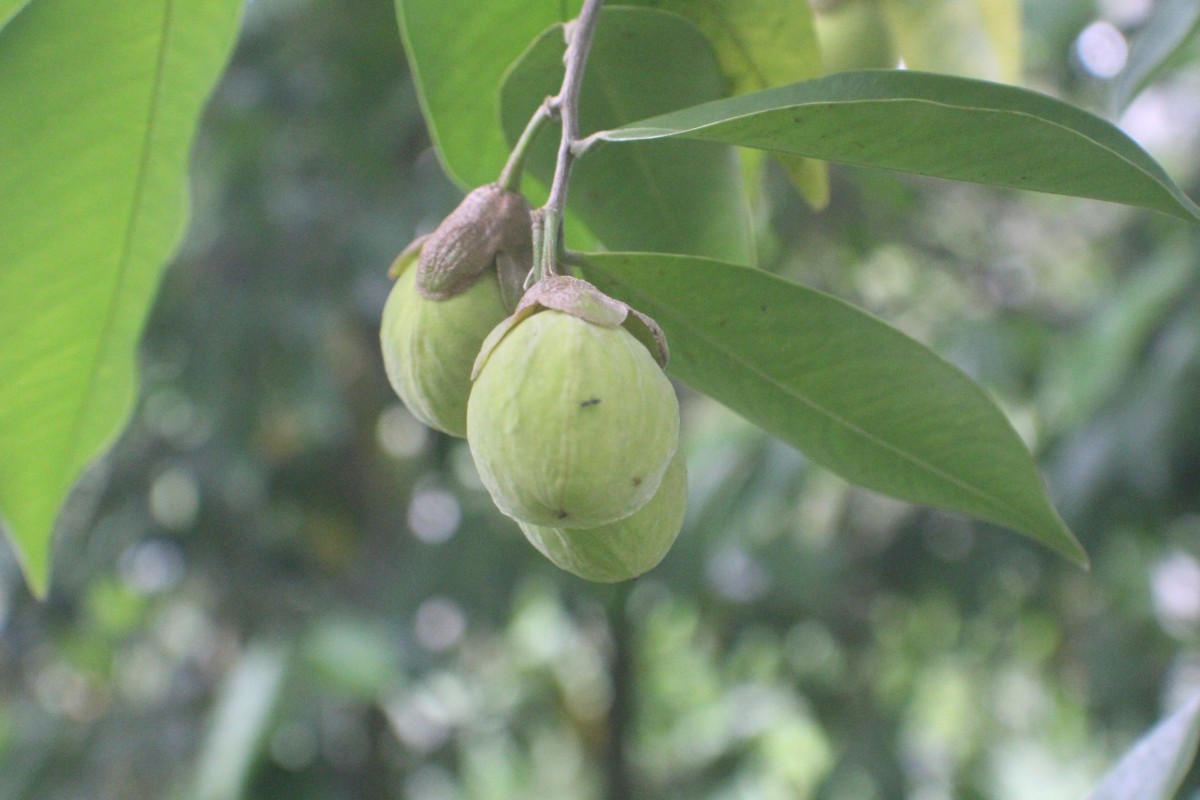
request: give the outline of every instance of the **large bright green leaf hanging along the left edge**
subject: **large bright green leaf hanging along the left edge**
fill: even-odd
[[[0,515],[44,594],[58,509],[130,414],[236,0],[37,0],[0,36]]]

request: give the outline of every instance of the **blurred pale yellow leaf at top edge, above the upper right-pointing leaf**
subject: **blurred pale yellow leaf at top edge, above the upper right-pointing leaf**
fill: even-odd
[[[882,0],[900,58],[911,70],[1019,83],[1018,0]]]

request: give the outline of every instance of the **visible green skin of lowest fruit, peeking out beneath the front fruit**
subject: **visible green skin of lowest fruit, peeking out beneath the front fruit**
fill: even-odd
[[[529,543],[559,569],[596,583],[629,581],[654,569],[667,554],[688,509],[688,470],[677,451],[650,501],[629,517],[577,530],[522,522]]]

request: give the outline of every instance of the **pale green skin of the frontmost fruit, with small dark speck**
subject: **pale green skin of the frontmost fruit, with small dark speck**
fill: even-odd
[[[679,443],[679,402],[631,333],[547,309],[487,356],[467,440],[505,515],[595,528],[654,497]]]

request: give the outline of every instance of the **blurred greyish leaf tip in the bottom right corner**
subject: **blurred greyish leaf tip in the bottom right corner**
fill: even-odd
[[[1200,697],[1138,740],[1087,800],[1171,800],[1200,744]]]

